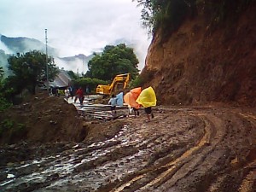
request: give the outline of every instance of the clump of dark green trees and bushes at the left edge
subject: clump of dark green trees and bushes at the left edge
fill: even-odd
[[[4,78],[3,67],[0,67],[0,111],[15,103],[15,97],[28,90],[35,94],[36,86],[46,79],[46,55],[33,50],[23,55],[9,56],[9,72]],[[49,79],[54,79],[58,72],[52,57],[48,57]]]

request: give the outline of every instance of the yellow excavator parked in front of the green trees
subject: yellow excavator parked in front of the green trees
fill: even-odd
[[[128,87],[131,81],[131,73],[118,74],[114,77],[112,83],[109,85],[98,84],[96,87],[96,93],[110,96],[112,94],[117,94],[120,91]]]

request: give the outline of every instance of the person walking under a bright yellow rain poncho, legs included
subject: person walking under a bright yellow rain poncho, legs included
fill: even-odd
[[[154,118],[152,107],[156,106],[156,96],[151,86],[141,92],[141,94],[137,97],[136,102],[140,105],[143,105],[145,113],[147,113],[148,121],[150,121],[150,116],[151,119]]]

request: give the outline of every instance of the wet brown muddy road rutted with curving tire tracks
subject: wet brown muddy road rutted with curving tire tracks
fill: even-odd
[[[121,126],[102,141],[1,148],[0,191],[255,191],[255,108],[163,107],[145,120],[109,122]]]

